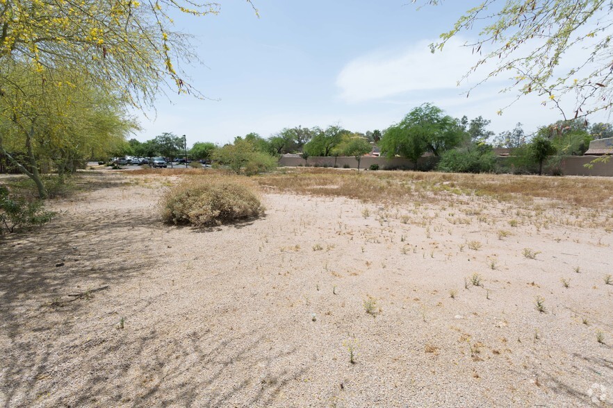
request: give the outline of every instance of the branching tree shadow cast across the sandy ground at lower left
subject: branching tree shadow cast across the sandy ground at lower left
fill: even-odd
[[[147,279],[160,262],[142,238],[167,230],[158,221],[126,210],[63,214],[38,231],[3,239],[0,406],[267,406],[309,370],[297,350],[275,348],[259,332],[206,323],[173,332],[179,316],[166,314],[138,327],[130,317],[123,329],[99,323],[113,312],[99,299],[121,303],[126,316],[163,307],[117,289]],[[138,230],[138,238],[118,233],[126,230]],[[126,253],[135,261],[126,264]],[[67,294],[104,285],[108,290],[90,300],[65,302]],[[54,306],[57,300],[63,306]],[[120,321],[118,314],[111,318]]]

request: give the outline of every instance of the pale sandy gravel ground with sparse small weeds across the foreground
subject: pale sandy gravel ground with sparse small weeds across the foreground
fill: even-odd
[[[194,230],[161,222],[160,182],[97,177],[0,241],[2,407],[613,406],[598,214],[269,192]]]

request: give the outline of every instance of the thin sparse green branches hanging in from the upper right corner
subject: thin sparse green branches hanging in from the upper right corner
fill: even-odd
[[[418,0],[413,0],[416,3]],[[438,4],[443,0],[420,0]],[[613,105],[610,46],[613,28],[610,0],[488,0],[473,1],[474,6],[459,17],[453,28],[431,44],[432,52],[442,50],[453,37],[476,33],[465,44],[480,56],[466,79],[477,67],[491,64],[489,74],[479,83],[500,74],[512,73],[518,98],[536,93],[553,103],[564,119],[581,117]],[[561,69],[562,60],[573,50],[584,55]],[[576,55],[576,54],[575,54]],[[566,112],[560,100],[569,94],[575,103]],[[503,108],[504,109],[504,108]],[[499,112],[502,112],[500,110]]]

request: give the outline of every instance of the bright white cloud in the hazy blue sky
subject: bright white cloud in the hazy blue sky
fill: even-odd
[[[352,60],[336,78],[341,98],[357,103],[411,91],[456,89],[476,56],[462,47],[461,38],[450,40],[445,52],[431,53],[432,42],[421,40],[405,49],[375,51]]]

